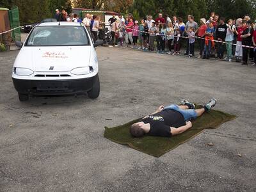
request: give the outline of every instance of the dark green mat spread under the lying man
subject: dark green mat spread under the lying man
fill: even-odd
[[[201,107],[202,106],[196,106],[196,108]],[[172,138],[156,136],[134,138],[129,132],[129,127],[136,122],[140,122],[141,118],[139,118],[118,127],[105,127],[104,137],[116,143],[129,145],[129,147],[140,150],[151,156],[160,157],[166,152],[195,137],[197,134],[200,134],[204,129],[215,129],[221,124],[233,120],[234,118],[236,118],[235,115],[211,109],[211,111],[196,118],[196,120],[192,122],[193,127],[188,131],[173,136]]]

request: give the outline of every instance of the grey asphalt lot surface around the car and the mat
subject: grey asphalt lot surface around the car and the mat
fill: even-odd
[[[97,100],[19,102],[11,78],[17,53],[0,53],[0,191],[256,190],[256,67],[99,47]],[[103,137],[104,126],[160,104],[212,97],[216,109],[239,117],[159,158]]]

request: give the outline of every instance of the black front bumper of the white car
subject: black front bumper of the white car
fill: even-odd
[[[92,89],[97,76],[83,79],[65,80],[27,80],[13,79],[17,92],[29,95],[72,95]]]

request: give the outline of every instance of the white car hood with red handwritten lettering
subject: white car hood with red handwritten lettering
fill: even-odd
[[[90,46],[24,46],[15,60],[15,67],[30,68],[36,72],[67,72],[76,67],[88,67],[90,55]]]

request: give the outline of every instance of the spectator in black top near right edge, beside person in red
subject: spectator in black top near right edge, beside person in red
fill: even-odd
[[[242,21],[242,24],[246,22],[246,20]],[[252,34],[253,34],[253,28],[251,28],[252,21],[248,20],[246,22],[246,29],[243,31],[241,38],[242,38],[242,45],[250,46],[252,42]],[[242,65],[248,65],[248,47],[243,47],[243,63]]]

